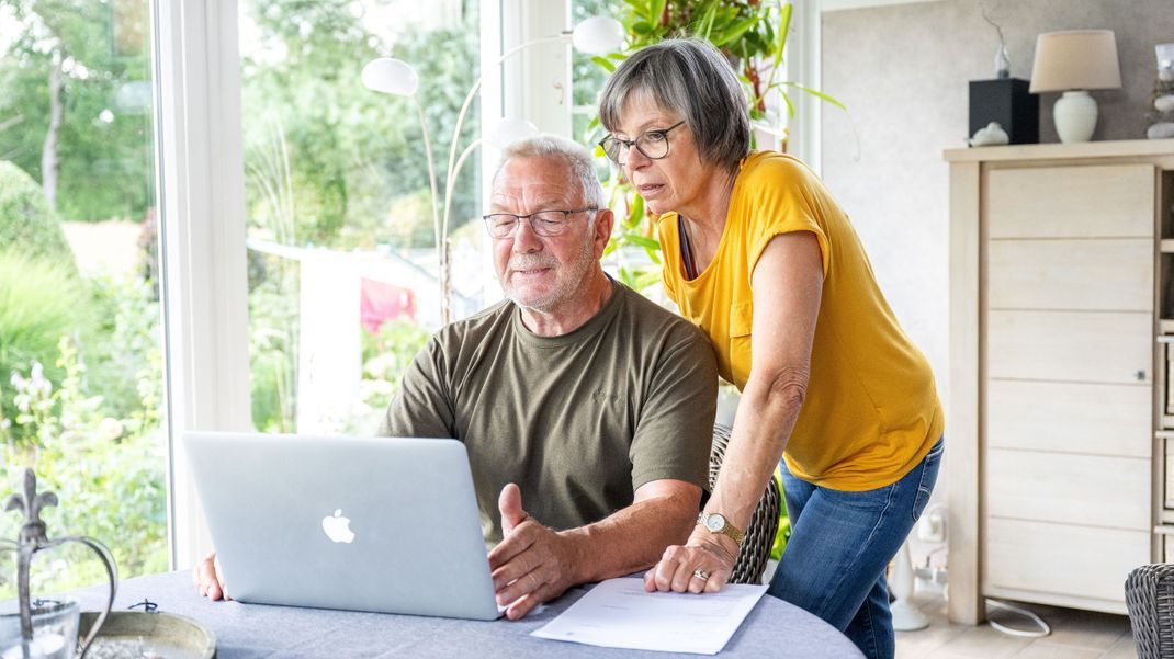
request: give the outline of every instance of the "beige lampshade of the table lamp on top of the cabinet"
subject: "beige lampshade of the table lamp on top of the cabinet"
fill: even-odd
[[[1045,32],[1035,40],[1031,93],[1118,89],[1121,66],[1111,29]]]

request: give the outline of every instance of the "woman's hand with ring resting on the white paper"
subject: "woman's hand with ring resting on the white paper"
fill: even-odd
[[[699,525],[687,544],[669,545],[660,563],[645,572],[645,590],[717,592],[729,580],[736,559],[737,543]]]

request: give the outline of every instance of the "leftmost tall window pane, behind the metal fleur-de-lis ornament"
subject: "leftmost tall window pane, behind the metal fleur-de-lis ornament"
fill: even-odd
[[[0,497],[32,466],[50,537],[167,570],[148,1],[0,0]],[[34,595],[103,582],[82,556],[39,553]]]

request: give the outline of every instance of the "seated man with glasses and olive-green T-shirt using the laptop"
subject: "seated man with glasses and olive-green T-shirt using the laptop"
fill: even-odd
[[[688,537],[707,482],[713,352],[603,273],[603,202],[581,147],[542,136],[505,151],[485,224],[508,299],[437,333],[383,424],[465,443],[511,619],[655,564]],[[222,595],[212,557],[196,585]]]

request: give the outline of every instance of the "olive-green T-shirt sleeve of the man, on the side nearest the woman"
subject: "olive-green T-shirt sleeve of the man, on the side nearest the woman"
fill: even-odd
[[[632,440],[632,489],[686,481],[709,489],[709,450],[717,412],[717,364],[699,330],[680,325],[659,355]]]

